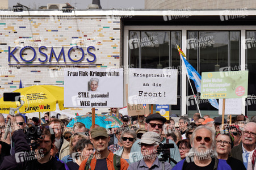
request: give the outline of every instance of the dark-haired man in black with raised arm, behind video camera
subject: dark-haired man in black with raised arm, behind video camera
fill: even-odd
[[[15,155],[6,156],[1,164],[0,169],[65,169],[65,165],[58,162],[50,155],[55,136],[50,130],[43,128],[40,138],[36,141],[36,150],[31,150],[26,141],[26,136],[22,129],[19,129],[16,118],[10,115],[7,119],[11,119],[12,141],[15,144]]]

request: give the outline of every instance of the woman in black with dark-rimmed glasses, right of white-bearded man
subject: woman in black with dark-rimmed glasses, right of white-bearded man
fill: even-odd
[[[246,169],[245,165],[238,159],[230,155],[231,149],[234,146],[234,136],[226,130],[221,130],[216,135],[216,151],[218,159],[226,160],[232,169]]]

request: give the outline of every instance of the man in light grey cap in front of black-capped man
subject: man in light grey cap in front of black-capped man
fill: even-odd
[[[161,143],[159,134],[148,131],[142,135],[139,145],[143,159],[139,162],[129,165],[128,170],[145,170],[145,169],[163,169],[162,162],[158,159],[157,147]],[[164,169],[171,169],[171,164],[164,162]]]

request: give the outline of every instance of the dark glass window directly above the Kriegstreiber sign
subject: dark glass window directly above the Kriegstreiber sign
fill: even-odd
[[[177,50],[181,46],[181,31],[129,31],[129,66],[145,69],[180,69]],[[171,113],[181,113],[181,76],[178,75],[177,105]]]

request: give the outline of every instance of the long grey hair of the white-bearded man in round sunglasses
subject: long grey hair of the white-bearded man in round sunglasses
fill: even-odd
[[[214,154],[216,157],[218,156],[218,154],[217,154],[217,151],[216,151],[216,142],[215,142],[215,138],[216,138],[216,136],[215,136],[215,133],[213,132],[213,130],[211,129],[211,128],[209,128],[208,126],[198,126],[198,128],[196,128],[194,131],[193,131],[193,133],[192,133],[192,136],[191,136],[191,139],[190,139],[190,145],[191,146],[195,146],[194,145],[194,139],[195,139],[195,134],[196,134],[196,131],[198,131],[198,130],[200,130],[200,129],[207,129],[208,131],[211,131],[211,140],[212,140],[212,146],[211,146],[211,149],[213,150],[213,153],[212,154]],[[192,147],[192,148],[193,148]],[[192,149],[192,150],[194,150],[194,148]],[[192,151],[191,150],[191,151]]]

